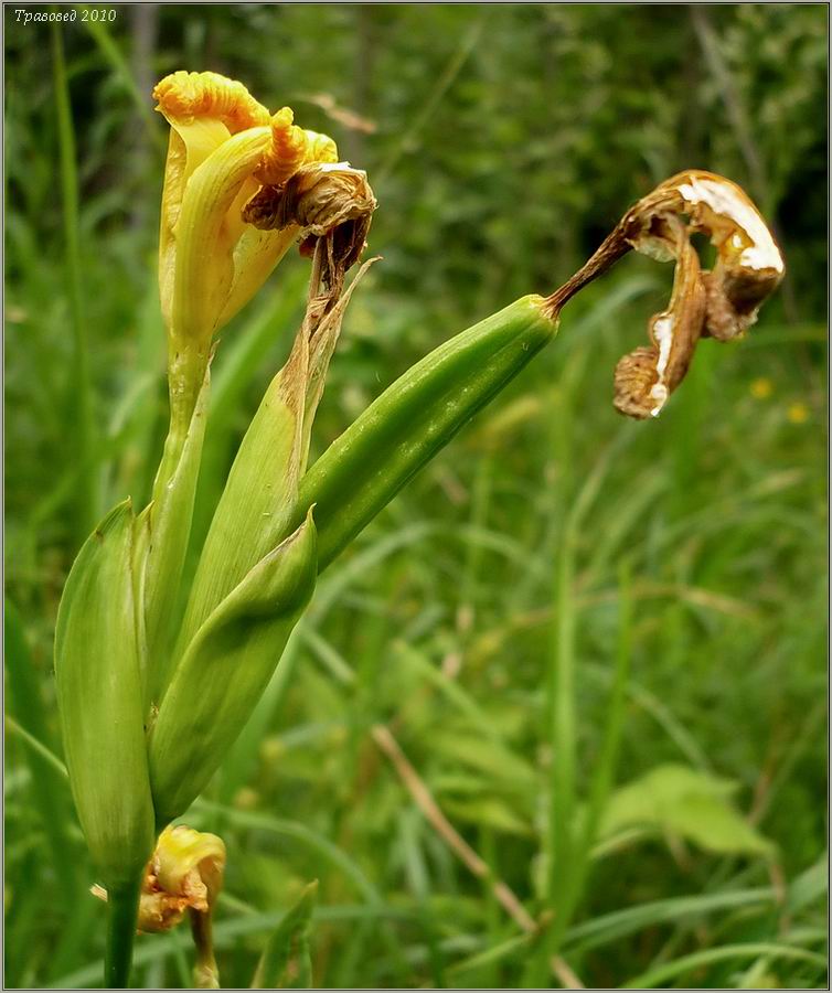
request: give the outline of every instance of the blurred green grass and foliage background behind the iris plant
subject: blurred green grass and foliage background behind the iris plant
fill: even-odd
[[[3,11],[6,985],[99,981],[52,636],[81,541],[160,453],[150,89],[185,67],[294,106],[378,197],[318,450],[680,168],[744,184],[789,268],[632,424],[612,369],[671,273],[628,258],[323,577],[188,818],[228,845],[224,984],[318,878],[317,985],[823,986],[825,6],[77,9]],[[305,277],[285,263],[223,334],[200,534]],[[140,939],[137,980],[186,984],[186,946]]]

